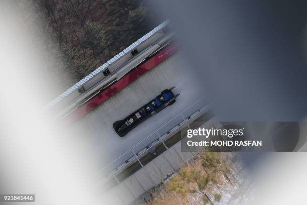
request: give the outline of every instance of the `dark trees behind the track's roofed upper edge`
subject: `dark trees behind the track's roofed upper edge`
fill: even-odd
[[[47,70],[61,79],[62,92],[163,21],[148,1],[32,0],[19,6],[34,8],[27,21],[43,34],[40,46],[59,59]]]

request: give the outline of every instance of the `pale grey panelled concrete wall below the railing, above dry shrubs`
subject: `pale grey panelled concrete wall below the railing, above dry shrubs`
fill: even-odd
[[[203,126],[211,126],[213,122],[208,121]],[[148,189],[160,184],[166,174],[174,173],[181,166],[184,166],[196,154],[197,152],[182,152],[181,141],[179,141],[120,184],[107,191],[103,197],[110,204],[130,204]]]

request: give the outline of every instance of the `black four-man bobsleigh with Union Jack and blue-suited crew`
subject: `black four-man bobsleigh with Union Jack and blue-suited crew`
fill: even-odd
[[[120,136],[125,136],[128,132],[134,129],[136,126],[175,103],[176,97],[180,94],[174,94],[171,89],[165,89],[160,95],[150,100],[146,105],[138,109],[137,111],[130,114],[123,120],[116,121],[113,123],[115,132]]]

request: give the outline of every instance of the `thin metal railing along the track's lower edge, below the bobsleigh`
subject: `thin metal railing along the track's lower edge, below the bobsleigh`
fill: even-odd
[[[156,145],[163,144],[166,149],[169,149],[165,144],[165,141],[174,136],[178,130],[182,130],[185,127],[189,127],[189,124],[195,119],[203,115],[209,110],[209,105],[204,100],[204,97],[194,102],[193,105],[181,112],[179,115],[168,121],[165,125],[160,127],[154,133],[144,138],[142,141],[134,145],[131,149],[123,153],[121,156],[110,162],[104,168],[97,172],[97,175],[102,175],[102,180],[115,178],[117,183],[119,180],[116,175],[121,173],[130,165],[138,162],[140,167],[144,165],[140,159],[148,154],[151,150],[155,149]],[[148,141],[150,143],[148,143]]]

